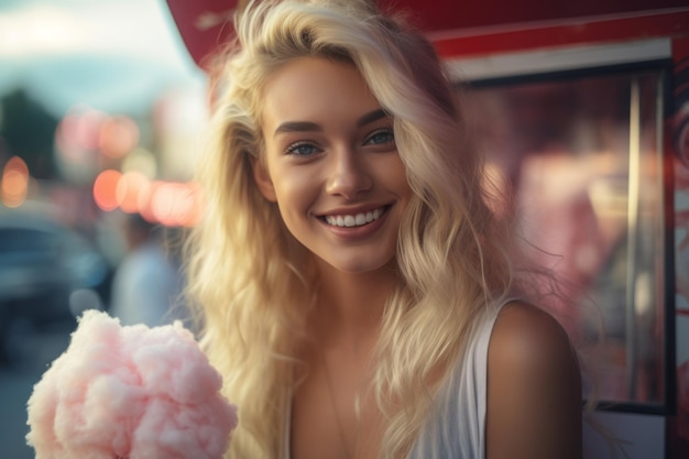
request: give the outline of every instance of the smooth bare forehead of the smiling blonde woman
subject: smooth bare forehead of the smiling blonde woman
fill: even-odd
[[[380,103],[353,64],[299,57],[266,81],[262,121],[270,132],[285,121],[344,122],[375,108]]]

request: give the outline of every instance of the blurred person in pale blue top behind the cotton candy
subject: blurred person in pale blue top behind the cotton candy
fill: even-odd
[[[110,314],[122,325],[154,327],[184,320],[183,276],[165,247],[162,229],[139,214],[130,214],[123,233],[127,253],[112,280]]]

